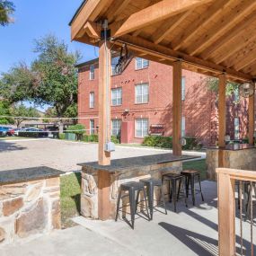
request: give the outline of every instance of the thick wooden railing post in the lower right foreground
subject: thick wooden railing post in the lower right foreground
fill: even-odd
[[[235,255],[234,180],[218,172],[217,184],[219,255]]]

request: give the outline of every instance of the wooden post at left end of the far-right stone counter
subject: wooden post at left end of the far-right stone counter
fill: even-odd
[[[225,146],[225,74],[218,80],[218,146]]]

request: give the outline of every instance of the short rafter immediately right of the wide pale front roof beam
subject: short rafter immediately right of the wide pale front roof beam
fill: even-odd
[[[164,38],[166,38],[166,36],[171,34],[173,30],[180,26],[181,22],[183,22],[193,11],[194,9],[191,9],[190,11],[181,13],[180,15],[172,17],[168,21],[164,22],[154,33],[151,40],[154,41],[154,43],[159,44],[162,40],[164,40]]]

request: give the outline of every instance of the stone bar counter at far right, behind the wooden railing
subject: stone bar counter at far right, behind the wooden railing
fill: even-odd
[[[208,147],[207,179],[216,181],[217,167],[256,171],[256,147],[249,144]]]

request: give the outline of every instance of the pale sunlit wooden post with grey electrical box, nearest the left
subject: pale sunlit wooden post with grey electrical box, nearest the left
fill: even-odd
[[[110,164],[110,153],[104,145],[110,138],[110,44],[100,42],[99,49],[99,164]],[[107,95],[109,100],[107,100]],[[109,127],[108,127],[109,125]]]

